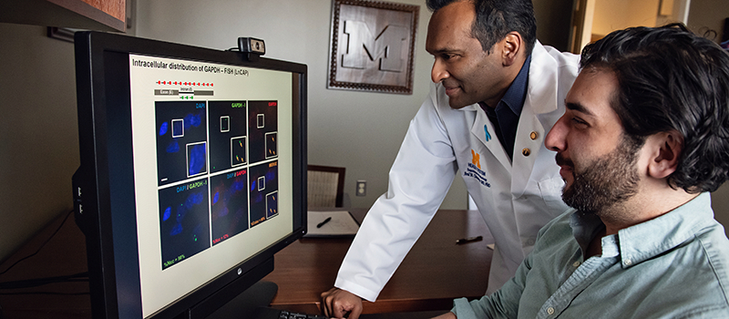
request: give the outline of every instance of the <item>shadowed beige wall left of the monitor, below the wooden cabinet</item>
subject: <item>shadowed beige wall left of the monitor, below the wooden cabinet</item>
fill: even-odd
[[[78,167],[73,44],[0,23],[0,261],[72,208]]]

